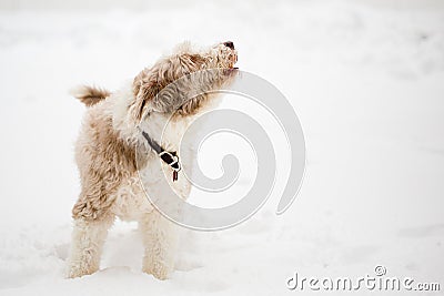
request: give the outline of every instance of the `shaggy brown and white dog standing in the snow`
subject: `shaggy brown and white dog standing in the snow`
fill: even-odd
[[[154,186],[160,177],[170,176],[172,169],[163,163],[161,170],[154,169],[158,166],[152,164],[160,161],[159,156],[147,144],[140,129],[162,141],[160,144],[167,150],[178,151],[183,166],[191,165],[195,155],[191,147],[179,146],[181,136],[193,118],[214,102],[216,94],[200,94],[191,100],[186,94],[195,89],[216,90],[231,82],[236,60],[232,42],[205,51],[182,44],[118,92],[90,86],[73,92],[89,108],[75,145],[81,193],[72,208],[74,228],[69,277],[99,269],[102,246],[115,216],[139,222],[144,245],[143,272],[164,279],[173,271],[178,226],[150,204],[140,183]],[[206,74],[203,82],[189,81],[173,92],[159,95],[173,81],[206,69],[215,71]],[[161,123],[165,118],[171,122],[162,134]],[[186,198],[191,185],[181,174],[176,182],[169,184]],[[155,198],[162,198],[162,191],[157,195]]]

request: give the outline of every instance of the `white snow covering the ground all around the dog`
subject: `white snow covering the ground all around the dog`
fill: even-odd
[[[0,295],[291,295],[294,272],[376,265],[444,289],[442,2],[67,2],[0,1]],[[291,101],[306,137],[300,195],[274,215],[283,176],[244,224],[183,231],[165,282],[140,272],[135,225],[118,222],[101,271],[64,279],[83,112],[68,90],[118,89],[183,40],[234,41],[239,67]]]

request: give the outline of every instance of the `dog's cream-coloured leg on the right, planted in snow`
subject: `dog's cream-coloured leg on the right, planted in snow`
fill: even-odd
[[[157,211],[139,221],[144,245],[144,273],[167,279],[173,272],[178,247],[176,227]]]

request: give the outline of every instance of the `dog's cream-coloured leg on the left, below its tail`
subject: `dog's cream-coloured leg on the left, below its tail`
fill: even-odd
[[[68,277],[90,275],[99,269],[102,247],[113,221],[113,216],[74,220]]]

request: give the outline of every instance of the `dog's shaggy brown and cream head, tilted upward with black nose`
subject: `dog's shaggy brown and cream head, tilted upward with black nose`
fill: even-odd
[[[212,95],[212,90],[231,82],[236,72],[238,52],[231,41],[204,51],[189,43],[145,68],[133,81],[135,100],[130,106],[137,120],[151,112],[174,116],[195,114]]]

